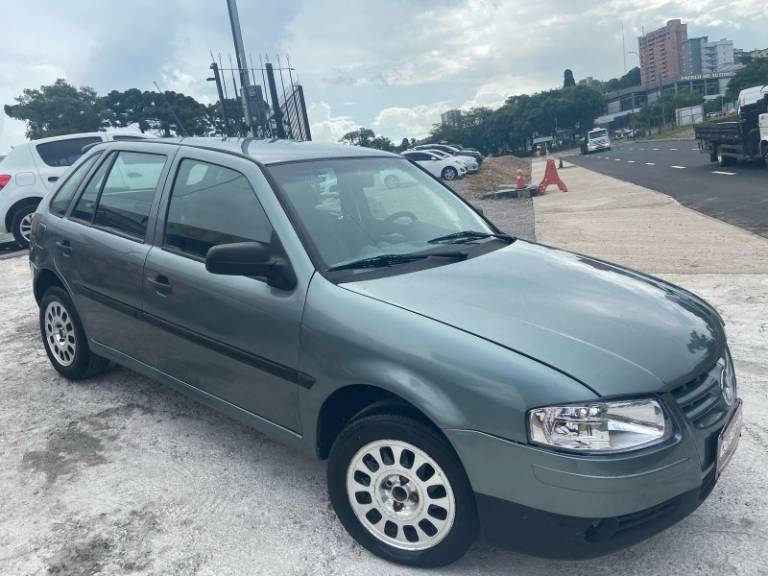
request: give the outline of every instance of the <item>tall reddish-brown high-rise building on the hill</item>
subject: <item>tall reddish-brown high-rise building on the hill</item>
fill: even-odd
[[[682,76],[680,47],[688,40],[688,25],[680,19],[637,39],[640,55],[640,82],[644,86],[660,84]]]

